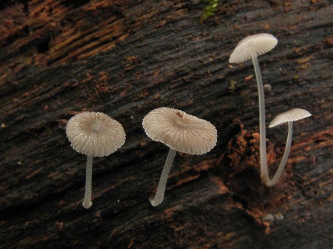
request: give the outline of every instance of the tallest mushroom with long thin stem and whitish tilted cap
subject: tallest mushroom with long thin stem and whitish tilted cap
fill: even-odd
[[[265,96],[263,81],[257,57],[271,51],[278,43],[272,34],[260,33],[242,39],[229,58],[230,63],[242,63],[252,59],[256,73],[259,97],[259,123],[260,123],[260,170],[261,179],[268,177],[266,156],[266,125],[265,125]]]

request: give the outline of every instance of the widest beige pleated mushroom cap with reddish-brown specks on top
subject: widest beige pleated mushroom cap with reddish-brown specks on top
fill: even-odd
[[[217,141],[213,124],[172,108],[151,111],[144,117],[142,125],[151,139],[188,154],[204,154]]]

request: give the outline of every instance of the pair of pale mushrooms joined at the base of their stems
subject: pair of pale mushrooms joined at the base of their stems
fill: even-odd
[[[286,149],[281,160],[280,166],[273,177],[272,180],[269,179],[268,168],[267,168],[267,155],[266,155],[266,124],[265,124],[265,95],[264,86],[262,81],[262,76],[260,72],[260,67],[258,63],[258,56],[263,55],[271,51],[278,44],[278,39],[272,34],[260,33],[255,35],[250,35],[242,39],[232,52],[229,58],[230,63],[242,63],[252,59],[253,66],[255,69],[257,86],[258,86],[258,98],[259,98],[259,129],[260,129],[260,170],[261,170],[261,180],[266,186],[274,186],[282,171],[286,165],[291,140],[292,140],[292,121],[300,120],[311,116],[311,114],[303,109],[292,109],[286,113],[278,115],[270,124],[269,127],[288,122],[289,132],[287,138]],[[266,89],[271,90],[271,86],[267,86]]]

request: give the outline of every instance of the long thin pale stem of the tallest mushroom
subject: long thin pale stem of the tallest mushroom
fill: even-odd
[[[265,125],[265,95],[263,80],[261,78],[260,67],[257,59],[256,52],[250,48],[253,66],[255,68],[258,97],[259,97],[259,126],[260,126],[260,178],[264,183],[269,181],[268,168],[267,168],[267,156],[266,156],[266,125]]]

